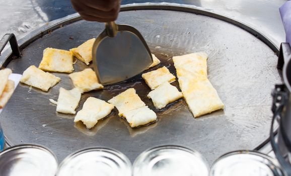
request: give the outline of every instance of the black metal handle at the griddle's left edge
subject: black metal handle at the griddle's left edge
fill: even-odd
[[[7,43],[10,43],[12,54],[19,58],[21,57],[21,52],[19,50],[19,46],[17,44],[17,40],[14,34],[5,34],[2,39],[0,40],[0,56],[1,52],[3,51],[4,47],[7,45]],[[6,58],[1,59],[0,58],[0,68],[5,64]]]

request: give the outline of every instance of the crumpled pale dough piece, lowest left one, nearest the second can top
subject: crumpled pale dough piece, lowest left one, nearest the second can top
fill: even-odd
[[[75,117],[74,122],[82,121],[88,129],[94,127],[98,120],[108,116],[114,106],[100,99],[89,97]]]

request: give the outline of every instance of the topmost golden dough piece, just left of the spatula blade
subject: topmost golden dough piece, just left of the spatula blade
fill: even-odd
[[[95,42],[95,38],[90,39],[86,41],[85,43],[83,43],[82,45],[78,46],[77,48],[70,49],[70,51],[79,60],[86,63],[86,65],[89,65],[89,63],[92,61],[92,47],[93,47],[94,42]]]

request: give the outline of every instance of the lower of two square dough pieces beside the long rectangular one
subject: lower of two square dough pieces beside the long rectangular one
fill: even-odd
[[[164,82],[148,94],[148,98],[152,99],[157,109],[165,108],[169,103],[183,97],[177,87],[171,85],[169,82]]]

